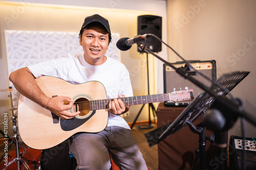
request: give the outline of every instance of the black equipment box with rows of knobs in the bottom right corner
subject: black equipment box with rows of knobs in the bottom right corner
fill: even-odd
[[[253,138],[245,138],[243,149],[243,138],[239,136],[230,136],[229,140],[229,167],[230,169],[256,169],[256,141]],[[245,159],[243,157],[245,153]],[[243,161],[244,159],[244,161]]]

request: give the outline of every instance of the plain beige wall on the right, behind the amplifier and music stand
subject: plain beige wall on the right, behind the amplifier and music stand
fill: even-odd
[[[256,1],[168,0],[168,44],[187,60],[216,60],[217,78],[231,71],[250,74],[231,93],[255,118],[256,110]],[[179,60],[168,51],[169,61]],[[246,124],[246,136],[256,137]],[[229,130],[241,136],[240,122]]]

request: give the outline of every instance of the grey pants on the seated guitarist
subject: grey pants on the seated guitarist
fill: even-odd
[[[120,169],[147,169],[131,130],[106,127],[98,133],[78,133],[70,140],[70,151],[77,169],[105,170],[111,168],[110,155]]]

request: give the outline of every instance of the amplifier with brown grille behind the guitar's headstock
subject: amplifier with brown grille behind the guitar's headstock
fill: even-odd
[[[216,61],[210,60],[210,61],[188,61],[191,66],[193,66],[195,69],[200,71],[203,75],[208,77],[211,80],[216,81]],[[175,67],[183,67],[185,66],[185,62],[176,62],[171,63]],[[211,86],[211,82],[206,80],[201,75],[197,74],[195,70],[188,71],[190,76],[193,76],[196,80],[203,83],[206,86]],[[188,87],[188,89],[194,89],[194,97],[196,98],[200,93],[203,92],[201,88],[199,88],[194,83],[190,82],[189,80],[181,77],[172,67],[163,64],[163,81],[164,81],[164,93],[172,92],[174,91],[174,88],[176,90],[182,90],[185,89],[185,87]],[[176,103],[173,101],[167,101],[164,102],[165,106],[187,106],[188,102],[182,102],[182,103]]]

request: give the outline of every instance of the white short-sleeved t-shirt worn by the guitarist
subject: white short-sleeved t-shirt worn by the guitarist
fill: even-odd
[[[118,95],[133,96],[129,71],[119,61],[106,57],[101,65],[88,64],[83,54],[68,55],[67,58],[55,59],[28,66],[32,74],[39,76],[54,76],[73,84],[88,81],[101,82],[108,99],[118,98]],[[130,129],[125,120],[109,111],[107,126],[119,126]]]

